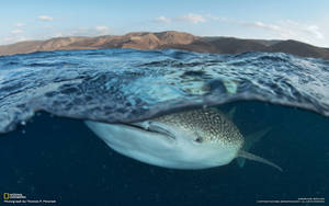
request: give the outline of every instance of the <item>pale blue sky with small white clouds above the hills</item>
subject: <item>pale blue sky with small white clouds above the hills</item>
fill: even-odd
[[[181,31],[329,47],[328,0],[3,0],[0,45],[63,36]]]

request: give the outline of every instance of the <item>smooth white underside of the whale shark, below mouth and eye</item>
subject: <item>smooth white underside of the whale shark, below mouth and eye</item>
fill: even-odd
[[[205,169],[229,163],[235,150],[205,149],[186,140],[121,125],[86,122],[109,147],[145,163],[172,169]],[[213,158],[218,158],[216,161]]]

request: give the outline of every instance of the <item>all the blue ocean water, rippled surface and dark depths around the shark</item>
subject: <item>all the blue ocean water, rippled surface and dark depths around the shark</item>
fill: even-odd
[[[253,161],[206,170],[148,165],[116,153],[83,124],[205,106],[235,108],[246,136],[270,127],[251,152],[283,172]],[[305,198],[329,196],[328,116],[322,59],[173,49],[0,57],[0,201],[15,193],[57,205],[316,205]]]

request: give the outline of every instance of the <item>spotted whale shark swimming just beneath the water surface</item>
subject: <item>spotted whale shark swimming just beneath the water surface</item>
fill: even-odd
[[[252,154],[229,115],[217,108],[181,111],[132,124],[86,121],[110,148],[135,160],[170,169],[197,170],[254,160],[282,169]],[[259,133],[259,136],[268,130]]]

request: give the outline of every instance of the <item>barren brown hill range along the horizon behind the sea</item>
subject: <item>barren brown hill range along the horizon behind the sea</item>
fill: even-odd
[[[178,48],[200,53],[238,54],[245,52],[288,53],[302,57],[329,59],[329,48],[297,41],[241,39],[234,37],[201,37],[182,32],[138,32],[98,37],[59,37],[29,41],[0,46],[0,55],[26,54],[41,50],[137,48]]]

